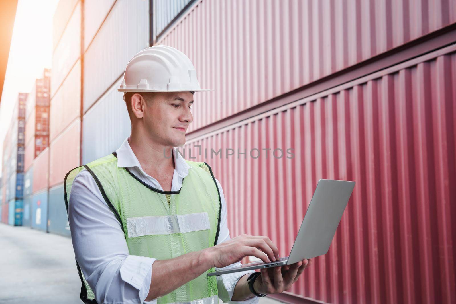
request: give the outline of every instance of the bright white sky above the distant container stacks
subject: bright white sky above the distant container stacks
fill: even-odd
[[[0,102],[0,160],[3,139],[19,92],[30,92],[44,68],[52,68],[52,20],[58,0],[19,0]],[[0,175],[2,162],[0,161]]]

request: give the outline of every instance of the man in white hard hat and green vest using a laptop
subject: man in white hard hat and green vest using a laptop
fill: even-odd
[[[65,177],[81,299],[213,304],[220,295],[247,304],[257,302],[255,294],[290,289],[310,260],[261,274],[207,276],[246,256],[275,261],[279,251],[265,236],[230,239],[223,190],[211,168],[173,148],[185,144],[194,91],[209,91],[200,88],[187,56],[169,46],[140,51],[118,90],[125,92],[130,137]]]

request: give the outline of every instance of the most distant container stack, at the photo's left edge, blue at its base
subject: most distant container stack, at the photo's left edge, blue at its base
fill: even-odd
[[[3,142],[3,191],[1,221],[22,225],[22,194],[24,189],[24,131],[27,94],[19,93],[13,118]]]

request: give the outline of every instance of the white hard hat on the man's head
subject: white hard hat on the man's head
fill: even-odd
[[[188,57],[171,46],[151,46],[127,64],[119,92],[214,91],[201,89]]]

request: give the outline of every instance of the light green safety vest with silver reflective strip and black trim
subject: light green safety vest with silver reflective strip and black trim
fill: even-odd
[[[116,153],[76,167],[64,180],[65,205],[73,180],[84,168],[125,233],[130,254],[170,259],[217,244],[221,200],[211,167],[205,162],[186,162],[191,168],[179,191],[161,191],[142,182],[128,168],[117,167]],[[79,268],[81,299],[96,303],[92,289]],[[217,280],[206,273],[157,299],[162,303],[218,303]],[[179,275],[179,274],[174,274]]]

